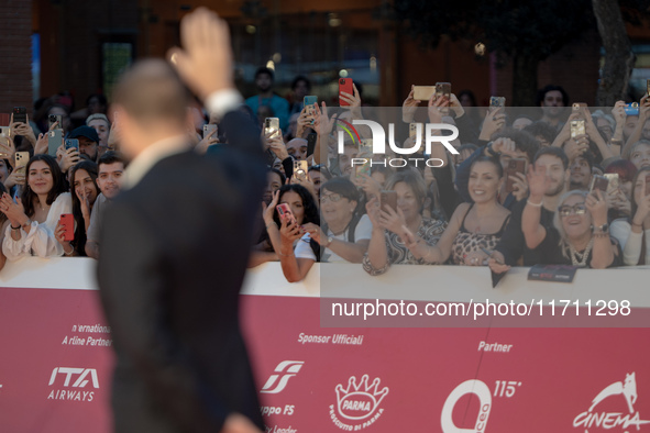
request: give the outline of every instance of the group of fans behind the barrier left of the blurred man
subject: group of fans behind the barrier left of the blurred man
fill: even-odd
[[[99,256],[102,209],[119,192],[125,162],[109,147],[117,130],[106,98],[93,95],[74,113],[70,101],[40,100],[33,119],[12,114],[0,136],[1,266],[32,255]],[[62,215],[71,216],[69,233]]]

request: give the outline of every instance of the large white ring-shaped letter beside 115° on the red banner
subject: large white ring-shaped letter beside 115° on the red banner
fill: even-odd
[[[478,398],[480,408],[478,414],[476,415],[476,423],[472,429],[458,428],[452,419],[453,408],[458,401],[465,395],[473,393]],[[485,432],[487,425],[487,419],[489,418],[489,411],[492,410],[492,395],[489,388],[481,380],[465,380],[447,398],[444,406],[442,407],[442,415],[440,423],[442,425],[443,433],[482,433]]]

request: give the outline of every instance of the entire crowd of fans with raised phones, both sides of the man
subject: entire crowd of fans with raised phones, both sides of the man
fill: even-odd
[[[251,267],[279,262],[293,282],[316,262],[360,264],[373,276],[399,264],[489,266],[500,274],[538,264],[650,263],[648,95],[638,104],[618,101],[592,112],[570,103],[561,87],[547,86],[539,107],[518,111],[472,107],[471,91],[421,101],[411,90],[400,127],[456,125],[458,155],[442,145],[423,155],[422,145],[419,156],[442,164],[392,167],[359,163],[392,156],[388,146],[386,155],[372,155],[362,127],[363,140],[344,134],[339,148],[342,124],[368,112],[356,85],[353,93],[340,93],[334,110],[304,103],[306,77],[296,77],[289,99],[273,91],[271,69],[260,68],[255,84],[258,95],[241,110],[260,130],[268,182]],[[106,98],[93,95],[87,106],[70,113],[65,95],[41,100],[33,120],[12,116],[11,133],[0,136],[0,266],[30,255],[99,256],[103,210],[119,193],[126,162]],[[228,131],[198,101],[187,111],[196,152],[229,145]],[[268,118],[279,131],[268,127]],[[203,129],[209,124],[217,127]],[[56,130],[62,142],[53,147]],[[412,147],[416,137],[404,135],[398,145]],[[68,147],[66,138],[78,145]],[[26,165],[16,164],[25,152]],[[71,240],[65,214],[74,216]]]

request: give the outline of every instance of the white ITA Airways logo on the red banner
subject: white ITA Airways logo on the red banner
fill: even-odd
[[[95,398],[93,389],[99,389],[99,378],[95,368],[56,367],[48,386],[55,389],[49,391],[47,400],[90,402]]]

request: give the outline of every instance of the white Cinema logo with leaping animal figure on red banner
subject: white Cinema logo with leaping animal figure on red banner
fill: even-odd
[[[613,430],[627,432],[630,425],[637,431],[641,425],[650,424],[648,420],[641,420],[641,415],[635,410],[637,402],[637,379],[632,371],[625,375],[624,381],[616,381],[606,386],[592,400],[592,406],[573,420],[573,426],[583,430],[585,433]],[[617,401],[618,400],[618,401]],[[608,407],[627,408],[627,411],[607,411]],[[650,429],[649,429],[650,430]]]

